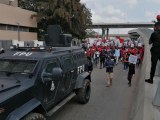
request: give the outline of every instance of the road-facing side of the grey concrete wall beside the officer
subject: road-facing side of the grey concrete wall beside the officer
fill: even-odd
[[[150,46],[148,44],[149,37],[152,31],[148,31],[145,33],[143,29],[137,29],[137,33],[142,37],[144,44],[145,44],[145,54],[143,59],[142,67],[140,68],[139,75],[138,75],[138,83],[136,86],[135,96],[134,96],[134,104],[131,110],[131,120],[145,120],[146,114],[144,114],[146,104],[145,104],[145,97],[146,97],[146,90],[145,90],[145,79],[149,78],[150,73]]]

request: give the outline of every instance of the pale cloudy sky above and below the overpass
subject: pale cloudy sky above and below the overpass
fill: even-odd
[[[81,3],[91,10],[93,23],[151,22],[160,14],[160,0],[81,0]],[[128,30],[111,29],[110,33],[125,34]]]

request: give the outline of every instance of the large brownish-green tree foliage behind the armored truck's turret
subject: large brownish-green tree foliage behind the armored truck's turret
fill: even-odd
[[[92,24],[92,14],[80,0],[19,0],[23,9],[38,13],[38,35],[44,37],[48,25],[61,25],[64,33],[85,38],[88,24]]]

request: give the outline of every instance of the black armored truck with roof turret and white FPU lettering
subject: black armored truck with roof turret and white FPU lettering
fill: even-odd
[[[59,26],[47,32],[45,47],[11,46],[0,55],[0,120],[46,120],[74,96],[89,101],[83,49]]]

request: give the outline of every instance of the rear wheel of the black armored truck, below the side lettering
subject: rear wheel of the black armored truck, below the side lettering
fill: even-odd
[[[83,83],[83,87],[76,90],[77,100],[81,104],[86,104],[89,101],[91,93],[90,81],[86,79]]]

